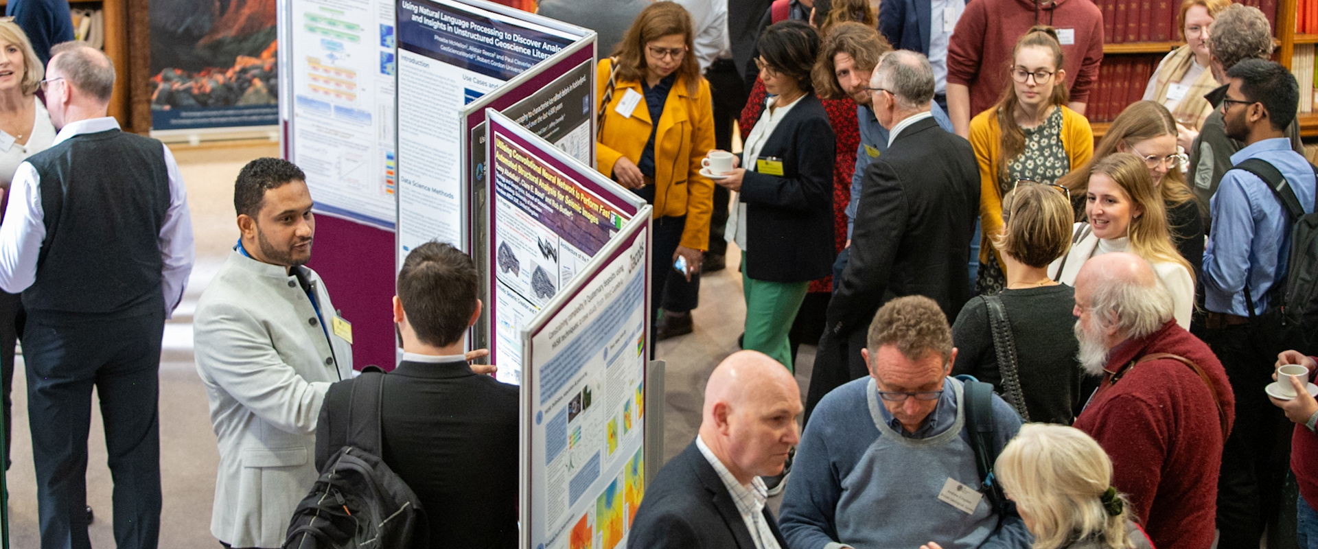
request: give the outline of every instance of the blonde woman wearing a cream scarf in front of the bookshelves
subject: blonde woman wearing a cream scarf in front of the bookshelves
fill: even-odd
[[[1220,84],[1209,70],[1209,25],[1228,5],[1231,0],[1184,0],[1177,21],[1185,45],[1162,58],[1144,88],[1144,100],[1172,112],[1182,150],[1190,150],[1199,126],[1213,115],[1213,105],[1203,96]]]

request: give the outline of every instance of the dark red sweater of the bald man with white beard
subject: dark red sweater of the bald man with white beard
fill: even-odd
[[[1111,383],[1118,367],[1153,353],[1178,354],[1199,365],[1217,386],[1227,424],[1235,420],[1235,398],[1222,362],[1199,338],[1169,321],[1148,337],[1112,349],[1108,374],[1075,428],[1111,456],[1112,483],[1130,498],[1153,546],[1207,549],[1223,442],[1209,387],[1194,370],[1172,359],[1132,366]]]

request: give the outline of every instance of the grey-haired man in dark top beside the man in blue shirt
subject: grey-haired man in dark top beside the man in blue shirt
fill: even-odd
[[[1203,96],[1213,104],[1214,109],[1199,130],[1194,132],[1181,126],[1182,140],[1178,140],[1182,144],[1193,141],[1193,145],[1186,150],[1190,155],[1190,169],[1186,178],[1190,179],[1194,196],[1205,208],[1207,208],[1213,195],[1218,192],[1222,175],[1234,165],[1231,155],[1244,149],[1243,142],[1227,137],[1226,121],[1222,111],[1218,109],[1227,96],[1224,86],[1227,70],[1244,59],[1272,59],[1272,25],[1268,24],[1268,17],[1259,8],[1231,4],[1218,13],[1207,30],[1209,53],[1211,54],[1209,66],[1213,70],[1213,78],[1223,86]],[[1286,126],[1285,136],[1290,140],[1290,147],[1296,153],[1305,154],[1305,146],[1300,141],[1298,121],[1292,121]],[[1209,215],[1205,219],[1205,225],[1213,221],[1211,212]]]

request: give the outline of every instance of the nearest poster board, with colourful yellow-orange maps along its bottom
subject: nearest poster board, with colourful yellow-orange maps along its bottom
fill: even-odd
[[[523,548],[626,544],[646,483],[650,222],[647,205],[522,334]]]

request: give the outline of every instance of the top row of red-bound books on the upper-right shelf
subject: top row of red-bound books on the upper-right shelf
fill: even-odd
[[[1318,0],[1298,0],[1318,4]],[[1182,39],[1177,28],[1181,14],[1180,0],[1095,0],[1103,13],[1103,41],[1106,43],[1174,42]],[[1276,28],[1277,0],[1244,0],[1240,4],[1263,11]]]

